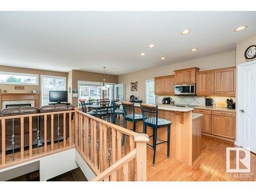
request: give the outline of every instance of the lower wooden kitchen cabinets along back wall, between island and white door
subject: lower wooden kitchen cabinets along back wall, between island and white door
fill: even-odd
[[[230,111],[194,109],[203,114],[202,133],[222,138],[236,138],[236,113]]]

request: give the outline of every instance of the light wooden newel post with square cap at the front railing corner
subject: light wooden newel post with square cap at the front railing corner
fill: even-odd
[[[137,181],[146,181],[146,143],[150,141],[148,135],[137,134],[134,137],[136,142]]]

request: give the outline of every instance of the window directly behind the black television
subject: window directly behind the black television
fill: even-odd
[[[49,103],[49,91],[65,91],[66,77],[41,75],[41,104]]]

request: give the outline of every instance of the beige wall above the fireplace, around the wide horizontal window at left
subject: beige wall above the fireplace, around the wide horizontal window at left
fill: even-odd
[[[7,90],[7,93],[28,93],[32,90],[41,91],[41,75],[50,75],[50,76],[60,76],[67,77],[67,73],[55,72],[55,71],[46,71],[46,70],[36,70],[36,69],[27,69],[27,68],[16,68],[8,66],[0,66],[0,71],[6,72],[15,72],[15,73],[28,73],[28,74],[38,74],[38,86],[25,86],[25,90],[14,90],[14,84],[0,84],[0,89]],[[41,99],[39,99],[39,103]]]

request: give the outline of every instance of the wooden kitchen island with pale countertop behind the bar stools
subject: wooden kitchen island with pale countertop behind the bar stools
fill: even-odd
[[[121,102],[117,102],[121,104]],[[142,114],[140,104],[135,103],[135,113]],[[171,105],[158,105],[158,117],[172,121],[170,128],[170,157],[192,166],[201,152],[202,114],[194,114],[193,108],[182,108]],[[132,123],[127,121],[127,129]],[[142,132],[143,122],[136,123],[136,132]],[[147,127],[148,136],[153,135],[152,128]],[[167,129],[158,129],[157,137],[167,140]],[[157,142],[161,142],[158,140]],[[152,137],[150,138],[152,144]],[[157,152],[167,154],[167,143],[157,145]],[[157,159],[157,155],[156,155]]]

